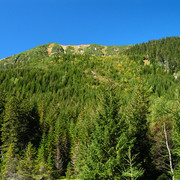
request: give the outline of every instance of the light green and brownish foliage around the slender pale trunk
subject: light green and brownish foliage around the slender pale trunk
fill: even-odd
[[[153,146],[152,146],[152,156],[156,164],[156,168],[160,171],[161,174],[166,174],[171,176],[170,167],[169,167],[169,154],[167,150],[167,145],[165,141],[164,134],[164,123],[166,124],[166,133],[168,136],[168,144],[171,153],[174,152],[175,143],[173,142],[173,123],[175,122],[174,110],[178,110],[178,105],[172,100],[167,100],[164,97],[157,98],[154,100],[153,105],[151,106],[151,132],[153,134]],[[176,110],[175,110],[176,111]],[[175,132],[175,131],[174,131]],[[173,154],[173,157],[174,154]],[[177,159],[177,158],[176,158]],[[178,160],[178,159],[177,159]],[[173,168],[177,168],[175,161],[173,161]],[[174,170],[175,170],[174,169]],[[163,176],[163,175],[162,175]],[[176,176],[175,176],[176,177]]]

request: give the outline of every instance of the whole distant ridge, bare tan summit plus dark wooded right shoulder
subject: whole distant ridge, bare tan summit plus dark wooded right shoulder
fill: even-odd
[[[1,59],[4,66],[7,64],[26,63],[29,61],[45,60],[49,57],[59,58],[68,55],[88,55],[88,56],[128,56],[145,65],[156,63],[166,71],[170,71],[179,77],[180,73],[180,37],[166,37],[159,40],[151,40],[147,43],[123,46],[105,46],[99,44],[86,45],[60,45],[58,43],[48,43],[37,46],[25,52]]]

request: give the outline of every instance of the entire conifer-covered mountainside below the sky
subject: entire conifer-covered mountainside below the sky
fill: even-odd
[[[180,179],[180,37],[50,43],[0,60],[1,179]]]

